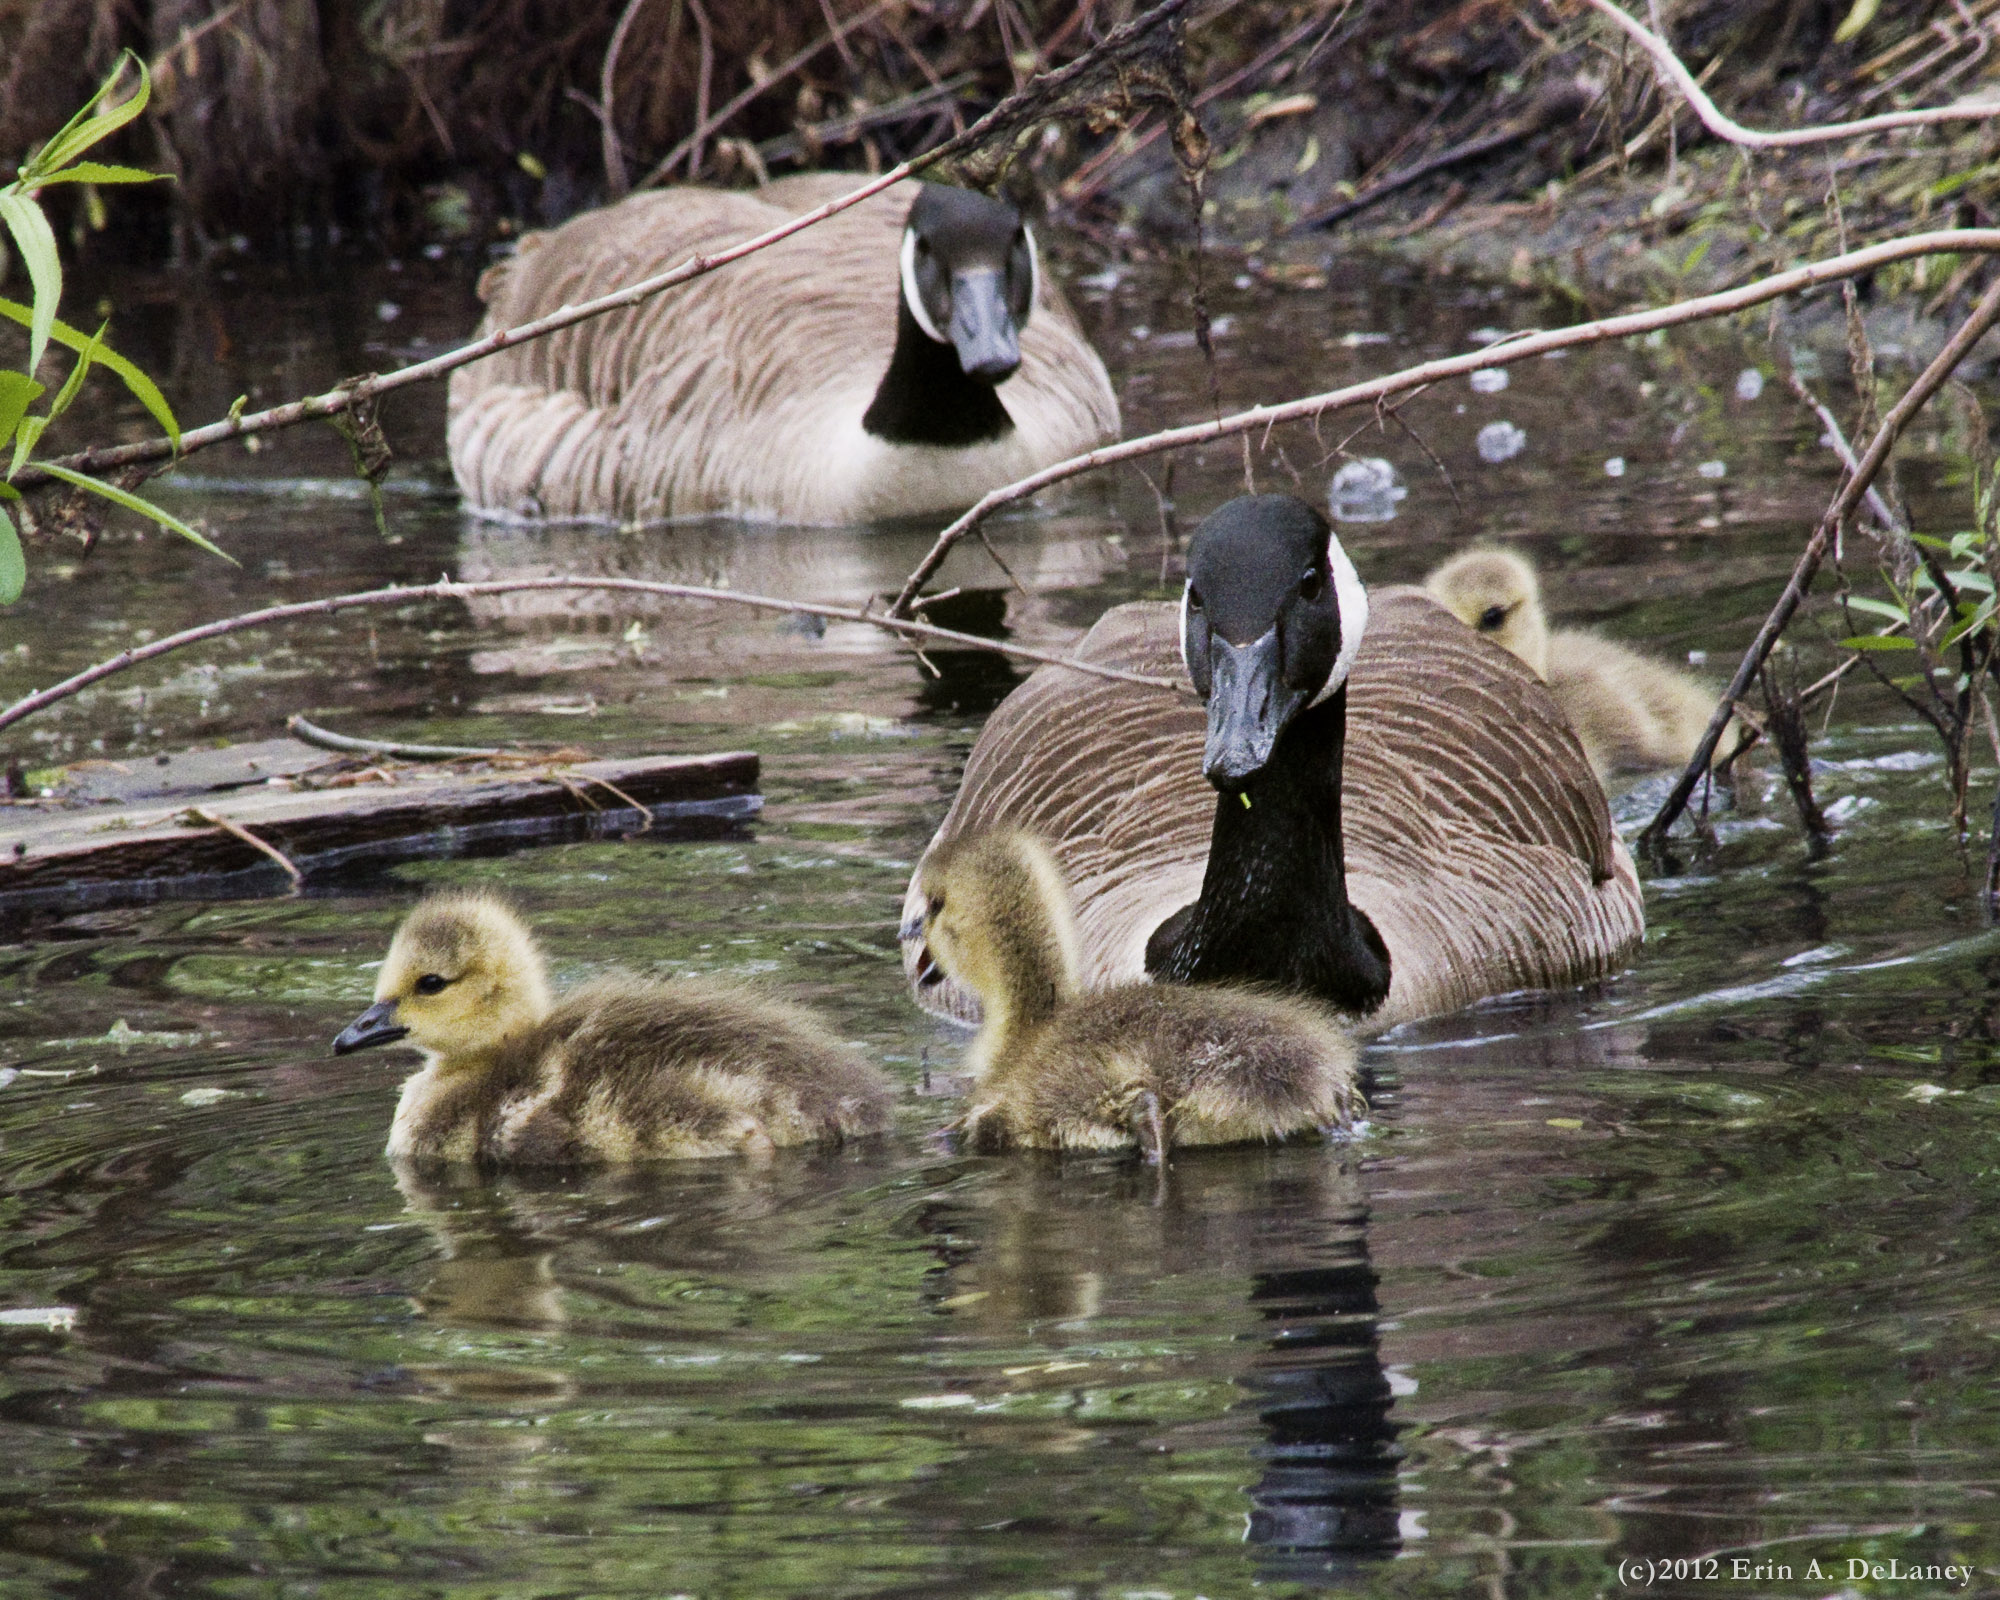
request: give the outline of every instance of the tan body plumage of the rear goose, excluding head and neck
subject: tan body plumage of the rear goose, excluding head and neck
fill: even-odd
[[[530,234],[482,278],[480,332],[738,244],[844,188],[812,174],[756,194],[658,190]],[[450,452],[468,502],[618,520],[916,510],[870,502],[862,478],[880,476],[872,456],[890,446],[860,428],[894,344],[910,196],[888,190],[638,306],[454,372]],[[1118,430],[1102,362],[1042,282],[1022,366],[1002,388],[1016,430],[986,450],[986,472],[1018,476],[1024,452],[1058,460]]]

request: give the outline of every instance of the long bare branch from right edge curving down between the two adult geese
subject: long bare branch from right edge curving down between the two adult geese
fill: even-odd
[[[1794,266],[1788,272],[1774,272],[1770,278],[1758,278],[1756,282],[1742,284],[1740,288],[1682,300],[1676,306],[1662,306],[1646,312],[1624,312],[1622,316],[1608,316],[1596,322],[1578,322],[1574,328],[1550,328],[1524,334],[1518,340],[1492,344],[1486,350],[1422,362],[1420,366],[1408,366],[1402,372],[1390,372],[1382,378],[1348,384],[1346,388],[1328,390],[1324,394],[1308,394],[1300,400],[1286,400],[1274,406],[1252,406],[1250,410],[1236,412],[1214,422],[1192,422],[1184,428],[1164,428],[1158,434],[1146,434],[1144,438],[1122,440],[1118,444],[1104,444],[1096,450],[1086,450],[1082,456],[1070,456],[1068,460],[1054,462],[1052,466],[1044,466],[1040,472],[1032,472],[1026,478],[1018,478],[1012,484],[1004,484],[1002,488],[988,492],[970,510],[946,526],[930,546],[924,560],[918,562],[916,570],[904,582],[902,592],[896,596],[896,604],[890,606],[890,616],[908,616],[910,602],[916,598],[916,592],[930,582],[938,566],[944,564],[952,546],[992,516],[992,512],[1000,510],[1000,506],[1026,500],[1032,494],[1040,494],[1050,484],[1078,478],[1100,466],[1114,466],[1142,456],[1156,456],[1162,450],[1180,450],[1188,444],[1208,444],[1210,440],[1228,438],[1232,434],[1272,428],[1280,422],[1300,422],[1326,416],[1328,412],[1352,410],[1354,406],[1372,406],[1384,396],[1400,394],[1402,390],[1420,388],[1424,384],[1436,384],[1444,378],[1460,378],[1482,366],[1510,366],[1512,362],[1542,356],[1548,350],[1568,350],[1578,344],[1602,344],[1614,338],[1630,338],[1632,334],[1648,334],[1654,328],[1672,328],[1682,322],[1728,316],[1730,312],[1748,310],[1750,306],[1760,306],[1766,300],[1796,294],[1804,288],[1816,288],[1840,278],[1872,272],[1888,262],[1966,250],[2000,252],[2000,228],[1958,228],[1950,232],[1910,234],[1908,238],[1872,244],[1866,250],[1850,250],[1844,256],[1830,256],[1822,262]]]

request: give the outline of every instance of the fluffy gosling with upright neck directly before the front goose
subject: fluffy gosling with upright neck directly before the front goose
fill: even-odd
[[[976,1150],[1244,1144],[1354,1120],[1354,1042],[1316,1006],[1246,988],[1082,994],[1070,892],[1030,834],[960,834],[924,858],[904,928],[978,994]]]

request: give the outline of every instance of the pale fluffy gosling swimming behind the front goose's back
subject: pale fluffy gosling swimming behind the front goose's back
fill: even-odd
[[[1608,638],[1582,628],[1552,632],[1542,584],[1512,550],[1452,556],[1424,588],[1548,682],[1600,778],[1684,766],[1694,756],[1716,696],[1686,672]]]

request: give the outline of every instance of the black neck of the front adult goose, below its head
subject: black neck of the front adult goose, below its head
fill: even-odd
[[[1382,1004],[1388,948],[1348,904],[1340,836],[1346,728],[1342,684],[1292,718],[1242,794],[1218,796],[1202,898],[1154,936],[1146,952],[1154,978],[1274,984],[1356,1014]]]

